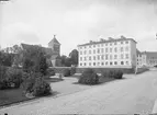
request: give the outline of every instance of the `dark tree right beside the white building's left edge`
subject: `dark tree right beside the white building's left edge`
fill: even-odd
[[[78,65],[78,50],[74,49],[70,54],[69,54],[70,60],[71,60],[71,65],[77,66]]]

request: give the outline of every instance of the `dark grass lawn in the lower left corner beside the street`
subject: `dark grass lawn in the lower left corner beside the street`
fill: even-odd
[[[26,100],[21,89],[0,90],[0,106]]]

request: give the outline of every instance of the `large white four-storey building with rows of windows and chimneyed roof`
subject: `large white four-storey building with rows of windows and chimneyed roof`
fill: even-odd
[[[132,68],[136,67],[136,42],[133,38],[101,38],[78,45],[78,67]]]

